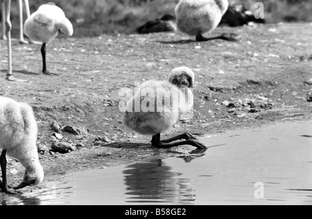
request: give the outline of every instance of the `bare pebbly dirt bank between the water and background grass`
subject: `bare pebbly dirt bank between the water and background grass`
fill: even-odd
[[[80,135],[61,132],[64,137],[59,141],[72,143],[76,151],[40,154],[45,182],[58,180],[60,173],[69,171],[166,158],[182,152],[154,149],[150,136],[123,132],[121,88],[134,88],[135,82],[147,79],[165,80],[177,66],[194,70],[193,118],[178,122],[163,137],[184,131],[200,137],[272,122],[306,120],[306,91],[311,86],[304,81],[312,77],[311,29],[311,23],[218,28],[214,35],[234,32],[239,41],[200,44],[173,32],[58,38],[48,46],[47,61],[48,69],[59,76],[40,74],[40,45],[21,45],[15,40],[14,75],[31,83],[4,79],[6,42],[0,41],[0,95],[33,106],[40,146],[51,149],[53,122],[88,130]],[[95,141],[104,136],[109,144]],[[9,172],[17,170],[9,175],[9,181],[17,184],[22,166],[10,160],[8,168]]]

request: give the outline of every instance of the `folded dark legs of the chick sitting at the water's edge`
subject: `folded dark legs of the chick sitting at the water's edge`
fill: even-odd
[[[191,145],[191,146],[196,146],[196,148],[198,149],[207,149],[207,146],[198,142],[198,140],[194,140],[194,139],[189,139],[189,140],[180,141],[180,142],[170,142],[170,143],[162,142],[160,141],[160,133],[153,135],[152,145],[157,148],[166,148],[166,149],[171,148],[173,146],[180,146],[180,145]]]

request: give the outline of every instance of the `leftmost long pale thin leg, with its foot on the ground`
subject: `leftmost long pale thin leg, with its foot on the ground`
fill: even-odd
[[[11,0],[6,0],[6,38],[8,40],[8,73],[6,79],[11,82],[27,82],[23,79],[17,79],[12,75],[12,48],[11,48],[11,29],[12,24],[10,22],[10,8]]]

